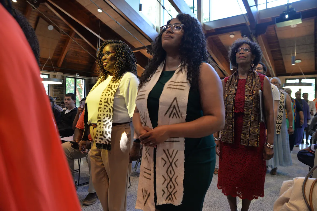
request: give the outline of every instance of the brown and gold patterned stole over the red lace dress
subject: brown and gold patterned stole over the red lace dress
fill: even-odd
[[[232,74],[225,84],[223,100],[225,105],[225,124],[221,132],[221,142],[234,144],[235,97],[238,86],[238,71]],[[250,69],[245,82],[244,114],[240,144],[260,146],[260,76]]]

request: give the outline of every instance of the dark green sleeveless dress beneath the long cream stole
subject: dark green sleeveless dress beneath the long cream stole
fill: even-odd
[[[163,71],[159,81],[149,93],[147,109],[153,128],[158,126],[159,98],[165,83],[175,71]],[[198,89],[190,88],[187,104],[186,122],[203,116]],[[204,197],[210,186],[216,163],[215,142],[213,136],[203,138],[185,138],[184,197],[180,206],[163,204],[156,206],[160,211],[184,211],[203,209]],[[154,181],[156,148],[154,148]],[[154,201],[156,204],[156,183],[154,182]]]

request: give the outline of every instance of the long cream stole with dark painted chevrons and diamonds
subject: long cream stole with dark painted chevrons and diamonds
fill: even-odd
[[[164,68],[161,63],[150,81],[139,89],[136,105],[142,126],[152,127],[147,109],[147,98],[159,80]],[[187,115],[187,103],[190,83],[187,80],[187,68],[180,65],[169,81],[165,83],[159,99],[158,126],[184,123]],[[140,168],[139,187],[136,208],[155,211],[154,203],[154,162],[153,147],[143,147]],[[185,139],[169,138],[156,148],[156,194],[157,205],[180,205],[183,200]]]

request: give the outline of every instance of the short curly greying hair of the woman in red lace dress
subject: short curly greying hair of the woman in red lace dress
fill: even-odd
[[[255,55],[255,58],[253,60],[253,64],[256,67],[262,59],[262,50],[259,44],[256,42],[253,42],[248,37],[243,37],[241,39],[236,39],[233,44],[231,45],[228,56],[230,59],[230,63],[233,67],[237,68],[237,60],[236,60],[236,49],[238,49],[241,45],[248,44],[250,45],[252,55]]]

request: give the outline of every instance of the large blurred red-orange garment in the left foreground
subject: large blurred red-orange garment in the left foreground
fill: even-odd
[[[79,211],[33,51],[0,4],[0,210]]]

